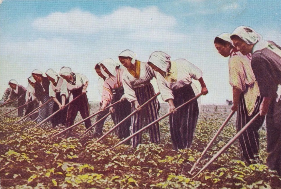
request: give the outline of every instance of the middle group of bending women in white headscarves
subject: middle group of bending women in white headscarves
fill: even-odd
[[[100,80],[104,80],[102,88],[102,101],[100,109],[104,110],[109,103],[122,99],[122,102],[114,107],[113,120],[117,124],[131,112],[138,110],[132,116],[131,121],[123,123],[117,129],[119,138],[128,137],[137,132],[143,126],[158,119],[160,104],[157,98],[150,101],[146,106],[140,105],[151,99],[155,95],[151,84],[153,77],[156,78],[158,88],[164,101],[170,105],[170,133],[174,150],[189,148],[192,143],[199,108],[197,101],[184,106],[180,111],[174,111],[189,99],[195,97],[191,87],[191,79],[199,80],[203,95],[208,93],[202,78],[202,71],[185,59],[170,60],[170,56],[165,52],[153,52],[148,62],[137,60],[136,54],[131,50],[124,50],[118,56],[125,68],[116,64],[113,59],[107,58],[96,64],[95,69]],[[118,109],[117,109],[117,108]],[[97,120],[104,117],[108,111],[101,112]],[[96,126],[95,136],[102,135],[103,122]],[[155,123],[149,127],[150,141],[160,142],[159,124]],[[131,139],[132,147],[141,143],[141,134]]]

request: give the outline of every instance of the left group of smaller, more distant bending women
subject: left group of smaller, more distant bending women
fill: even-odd
[[[17,81],[10,80],[10,95],[5,103],[10,100],[18,99],[18,106],[24,105],[18,109],[18,116],[28,115],[32,110],[39,106],[37,114],[31,119],[41,122],[53,112],[61,109],[51,118],[52,126],[73,125],[75,117],[80,112],[82,118],[89,116],[89,103],[86,95],[88,78],[82,74],[74,73],[68,67],[62,67],[60,74],[53,69],[48,69],[45,74],[40,70],[33,70],[32,77],[28,78],[28,87],[24,88]],[[51,100],[53,99],[53,100]],[[75,99],[66,108],[65,105]],[[91,120],[85,121],[86,128],[91,126]]]

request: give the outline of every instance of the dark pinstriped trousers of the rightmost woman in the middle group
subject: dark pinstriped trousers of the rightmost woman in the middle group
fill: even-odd
[[[195,97],[191,85],[173,91],[174,105],[178,107]],[[174,150],[190,148],[199,115],[197,100],[170,115],[170,133]]]

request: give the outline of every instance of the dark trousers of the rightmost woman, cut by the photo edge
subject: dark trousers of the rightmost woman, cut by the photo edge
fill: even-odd
[[[267,166],[281,176],[281,100],[276,102],[275,99],[266,114]]]

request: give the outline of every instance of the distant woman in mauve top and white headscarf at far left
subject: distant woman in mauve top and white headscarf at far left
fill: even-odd
[[[4,102],[7,103],[13,99],[18,98],[17,105],[22,106],[25,104],[25,95],[26,95],[26,88],[19,85],[15,79],[12,79],[9,81],[9,86],[11,88],[10,94],[8,96],[8,99]],[[18,109],[18,116],[22,117],[24,115],[24,106]]]

